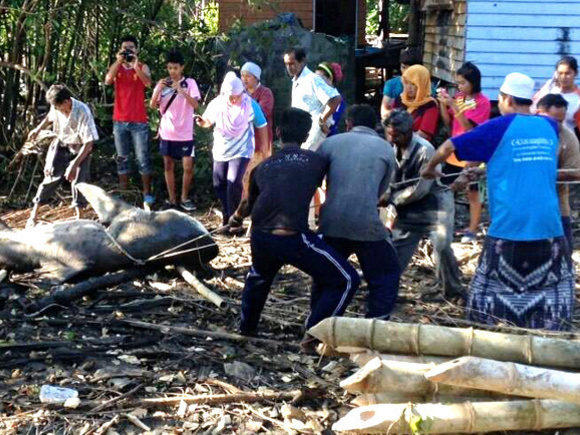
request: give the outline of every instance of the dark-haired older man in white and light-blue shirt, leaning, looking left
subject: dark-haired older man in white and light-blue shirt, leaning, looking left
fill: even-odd
[[[305,110],[312,117],[312,128],[302,148],[316,151],[328,134],[333,123],[332,115],[342,98],[335,88],[306,66],[304,49],[286,51],[284,64],[292,77],[292,107]]]

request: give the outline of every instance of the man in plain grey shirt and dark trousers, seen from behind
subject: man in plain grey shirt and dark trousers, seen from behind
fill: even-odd
[[[351,106],[348,132],[322,142],[318,153],[330,166],[319,231],[345,257],[356,254],[369,288],[367,316],[387,318],[397,299],[400,268],[377,203],[389,187],[395,156],[374,131],[376,123],[371,106]]]

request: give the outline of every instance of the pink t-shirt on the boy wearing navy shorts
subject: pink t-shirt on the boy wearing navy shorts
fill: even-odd
[[[194,79],[185,79],[185,83],[187,83],[187,93],[190,97],[196,99],[201,98],[199,88]],[[159,85],[157,85],[157,87],[159,87]],[[183,80],[182,87],[185,88]],[[161,122],[159,123],[159,136],[163,140],[174,140],[180,142],[192,140],[194,134],[194,111],[193,107],[191,107],[191,104],[187,102],[185,97],[177,95],[171,103],[171,106],[169,106],[169,109],[165,109],[173,95],[173,92],[173,89],[167,87],[161,91],[159,109],[163,115],[161,116]]]

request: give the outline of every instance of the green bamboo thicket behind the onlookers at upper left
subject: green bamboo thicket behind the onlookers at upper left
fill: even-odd
[[[187,60],[185,73],[198,81],[202,92],[213,85],[217,1],[203,2],[205,8],[201,0],[0,3],[0,153],[19,148],[45,110],[39,82],[67,84],[91,105],[100,127],[109,133],[113,89],[103,82],[124,34],[140,41],[139,58],[151,68],[154,81],[166,76],[165,52],[176,48]]]

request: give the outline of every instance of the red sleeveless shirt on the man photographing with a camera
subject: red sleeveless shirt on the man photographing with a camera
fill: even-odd
[[[143,68],[143,64],[139,64]],[[133,68],[119,66],[115,76],[113,121],[147,122],[145,85]]]

